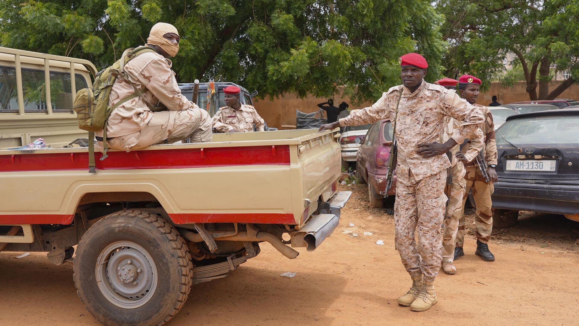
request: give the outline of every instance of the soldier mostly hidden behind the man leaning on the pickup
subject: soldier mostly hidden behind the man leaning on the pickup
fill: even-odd
[[[446,89],[456,89],[456,84],[459,81],[450,78],[440,79],[434,84],[444,86]],[[451,88],[452,87],[452,88]],[[452,118],[446,118],[442,130],[441,142],[446,142],[449,137],[461,128],[460,123]],[[462,216],[462,203],[466,187],[466,180],[464,180],[464,161],[470,162],[474,160],[478,152],[483,146],[483,134],[478,128],[471,136],[468,137],[470,148],[464,154],[463,160],[457,160],[454,157],[458,153],[460,146],[457,145],[450,150],[450,164],[452,165],[452,184],[448,194],[449,202],[446,206],[446,213],[444,218],[444,234],[442,236],[442,270],[446,274],[455,274],[456,267],[453,266],[453,253],[455,251],[456,233],[459,227],[459,220]],[[462,142],[461,142],[462,143]]]

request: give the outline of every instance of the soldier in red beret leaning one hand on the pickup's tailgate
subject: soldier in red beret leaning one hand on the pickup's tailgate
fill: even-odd
[[[398,143],[394,241],[412,277],[412,287],[398,303],[424,311],[438,302],[434,280],[442,261],[440,226],[447,199],[446,169],[450,166],[445,154],[471,135],[484,118],[456,92],[424,81],[428,63],[423,56],[408,53],[400,57],[400,66],[402,85],[384,92],[371,107],[352,111],[320,130],[373,124],[381,119],[394,121]],[[461,121],[461,128],[441,144],[438,140],[446,117]]]

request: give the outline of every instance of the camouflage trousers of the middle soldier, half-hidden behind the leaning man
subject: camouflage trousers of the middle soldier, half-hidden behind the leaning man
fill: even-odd
[[[455,257],[456,235],[459,231],[460,218],[463,216],[463,198],[466,192],[464,172],[463,162],[457,161],[452,166],[452,185],[444,216],[444,234],[442,236],[442,260],[445,262],[452,262]]]

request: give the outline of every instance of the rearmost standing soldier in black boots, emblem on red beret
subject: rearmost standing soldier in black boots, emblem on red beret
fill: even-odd
[[[477,102],[481,80],[471,75],[463,75],[459,78],[459,82],[459,91],[461,96],[463,96],[469,103],[474,104]],[[475,105],[479,106],[478,104]],[[485,135],[483,153],[485,154],[486,164],[488,165],[487,173],[490,182],[486,183],[479,171],[476,161],[464,164],[466,169],[466,175],[464,176],[464,179],[466,180],[466,193],[461,207],[463,213],[460,218],[459,229],[456,236],[454,259],[459,259],[460,256],[464,255],[464,204],[468,197],[468,191],[472,187],[472,197],[474,197],[475,205],[477,206],[475,216],[475,225],[477,227],[477,250],[475,251],[475,254],[487,262],[492,262],[494,260],[494,255],[489,251],[488,242],[493,230],[492,200],[490,195],[492,195],[494,191],[493,183],[497,182],[498,179],[497,172],[494,170],[497,166],[497,143],[494,138],[493,116],[487,107],[479,107],[481,107],[485,114],[485,123],[481,126],[481,129]],[[469,148],[470,144],[466,144],[462,149],[462,153],[467,153]],[[458,155],[461,155],[461,153]]]

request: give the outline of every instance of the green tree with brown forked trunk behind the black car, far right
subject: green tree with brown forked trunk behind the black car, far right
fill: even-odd
[[[446,74],[473,73],[490,82],[514,53],[531,100],[554,99],[579,81],[579,2],[576,0],[439,0],[449,43]],[[570,71],[549,92],[554,70]],[[537,79],[538,72],[538,79]]]

